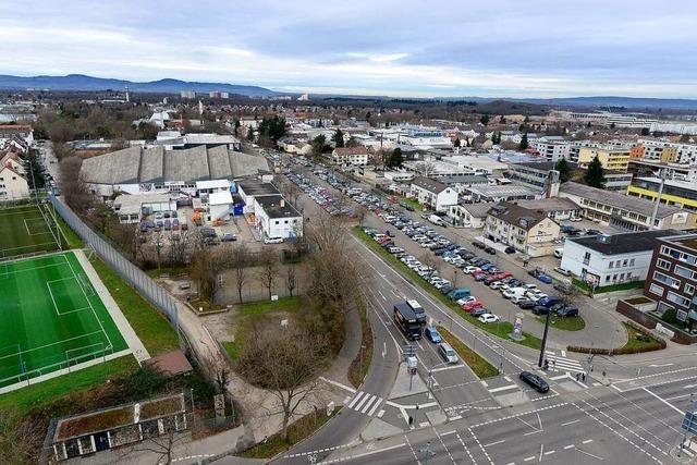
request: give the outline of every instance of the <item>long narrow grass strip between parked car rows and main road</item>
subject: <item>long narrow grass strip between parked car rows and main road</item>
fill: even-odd
[[[406,265],[404,265],[403,262],[401,262],[400,260],[398,260],[396,258],[394,258],[394,256],[392,254],[390,254],[389,252],[387,252],[384,248],[380,247],[380,244],[378,244],[377,242],[375,242],[372,240],[372,237],[370,237],[368,234],[364,233],[363,230],[359,227],[355,227],[353,230],[353,233],[356,237],[358,237],[360,241],[363,241],[371,250],[374,250],[376,254],[378,254],[380,257],[382,257],[388,264],[392,265],[393,268],[398,269],[399,271],[402,272],[402,274],[412,279],[413,282],[415,282],[416,284],[420,285],[425,291],[427,291],[428,293],[430,293],[436,299],[440,301],[444,306],[451,308],[452,310],[456,311],[457,315],[460,315],[463,319],[465,319],[467,322],[481,328],[484,331],[487,331],[491,334],[498,335],[501,339],[505,339],[508,341],[511,342],[515,342],[516,344],[521,344],[521,345],[525,345],[531,348],[540,348],[542,346],[542,341],[529,333],[523,332],[523,335],[525,335],[525,339],[523,341],[515,341],[514,339],[512,339],[509,334],[511,334],[513,332],[513,323],[509,322],[509,321],[503,321],[501,323],[497,323],[497,325],[487,325],[487,323],[482,323],[481,321],[479,321],[477,318],[474,318],[472,315],[469,315],[468,313],[464,311],[462,308],[460,308],[457,306],[457,304],[455,304],[454,302],[452,302],[450,298],[448,298],[448,296],[441,294],[440,292],[438,292],[438,290],[436,287],[433,287],[432,285],[430,285],[428,282],[424,281],[424,279],[421,277],[419,277],[414,270],[412,270],[409,267],[407,267]]]

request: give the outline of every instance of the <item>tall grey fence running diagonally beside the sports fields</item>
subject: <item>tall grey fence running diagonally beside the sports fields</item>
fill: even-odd
[[[160,287],[143,270],[129,261],[123,255],[114,249],[107,241],[101,238],[68,206],[52,195],[48,199],[53,205],[56,212],[63,218],[68,225],[80,235],[83,242],[89,245],[95,253],[105,260],[111,269],[117,271],[121,278],[130,283],[145,297],[155,308],[162,313],[176,329],[180,341],[180,348],[184,350],[182,332],[179,326],[178,306],[174,298],[162,287]]]

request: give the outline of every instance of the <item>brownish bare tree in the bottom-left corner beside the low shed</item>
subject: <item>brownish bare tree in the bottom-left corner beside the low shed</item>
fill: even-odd
[[[41,431],[14,408],[0,409],[0,463],[32,464],[41,446]]]

